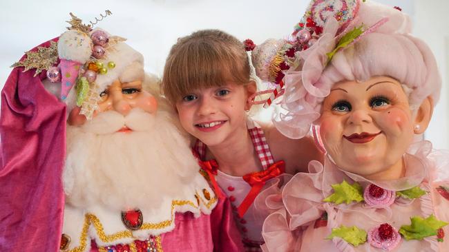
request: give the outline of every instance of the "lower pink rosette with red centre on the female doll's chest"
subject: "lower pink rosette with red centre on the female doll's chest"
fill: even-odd
[[[392,251],[401,242],[401,235],[388,223],[381,224],[368,231],[368,242],[385,251]]]

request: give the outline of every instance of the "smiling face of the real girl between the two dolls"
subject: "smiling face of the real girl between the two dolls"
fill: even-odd
[[[180,123],[204,144],[219,145],[239,130],[246,130],[245,110],[250,107],[248,98],[253,90],[253,82],[228,83],[187,94],[176,102]]]

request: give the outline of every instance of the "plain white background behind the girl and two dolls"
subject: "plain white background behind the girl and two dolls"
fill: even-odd
[[[367,0],[370,1],[370,0]],[[68,25],[69,12],[85,23],[104,10],[112,16],[99,23],[114,35],[142,52],[146,70],[161,75],[166,55],[180,36],[195,30],[216,28],[253,39],[282,38],[292,32],[309,1],[292,0],[129,0],[129,1],[30,1],[1,0],[0,3],[0,87],[10,65],[23,52],[59,36]],[[443,76],[443,90],[426,138],[438,149],[449,149],[449,1],[379,0],[400,6],[414,21],[414,35],[424,39],[437,56]],[[267,113],[266,113],[267,114]]]

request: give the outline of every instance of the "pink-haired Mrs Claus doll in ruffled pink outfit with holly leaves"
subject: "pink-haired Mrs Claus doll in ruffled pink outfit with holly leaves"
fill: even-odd
[[[285,185],[265,250],[449,251],[449,181],[437,180],[449,156],[413,143],[439,98],[434,56],[399,8],[334,2],[310,4],[304,20],[315,26],[303,27],[318,41],[298,55],[283,101],[289,116],[319,116],[327,156]]]

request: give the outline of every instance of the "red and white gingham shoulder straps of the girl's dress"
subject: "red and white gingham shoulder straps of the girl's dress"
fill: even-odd
[[[274,164],[274,158],[271,155],[271,151],[269,151],[267,138],[265,138],[265,134],[260,127],[248,129],[248,132],[249,136],[251,136],[251,140],[253,141],[254,149],[256,149],[256,153],[262,163],[262,167],[265,170],[270,165]],[[201,160],[204,160],[204,157],[206,156],[206,145],[197,139],[195,145],[193,145],[193,151],[198,154],[198,157]]]

